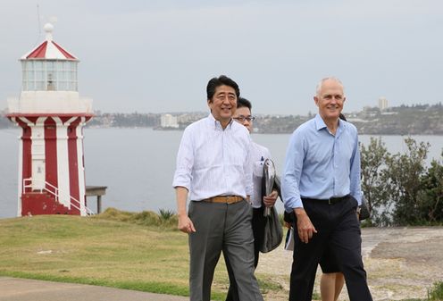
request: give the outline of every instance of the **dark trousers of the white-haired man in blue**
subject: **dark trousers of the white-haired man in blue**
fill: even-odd
[[[343,272],[347,293],[351,301],[372,301],[362,260],[360,222],[357,220],[357,201],[349,196],[328,205],[324,200],[302,199],[317,233],[307,244],[297,235],[297,218],[294,223],[294,253],[290,274],[289,301],[310,301],[318,263],[329,248]]]

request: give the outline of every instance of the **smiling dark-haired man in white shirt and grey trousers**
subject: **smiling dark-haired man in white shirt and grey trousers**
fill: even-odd
[[[226,76],[209,80],[208,117],[183,132],[172,186],[179,229],[189,235],[191,301],[209,301],[221,251],[229,258],[241,301],[263,301],[254,276],[251,138],[232,120],[240,94]],[[190,198],[188,213],[186,203]]]

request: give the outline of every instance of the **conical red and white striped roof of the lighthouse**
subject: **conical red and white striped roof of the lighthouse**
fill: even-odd
[[[78,61],[78,59],[73,54],[69,53],[62,46],[53,41],[53,29],[54,26],[50,23],[47,23],[45,25],[46,41],[29,51],[29,53],[21,56],[21,60],[42,59]]]

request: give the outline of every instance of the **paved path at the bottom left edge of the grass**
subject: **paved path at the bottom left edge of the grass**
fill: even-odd
[[[0,301],[185,301],[129,289],[0,277]]]

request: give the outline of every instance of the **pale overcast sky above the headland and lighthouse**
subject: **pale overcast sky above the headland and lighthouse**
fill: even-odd
[[[39,18],[38,9],[39,6]],[[317,82],[342,79],[345,112],[443,100],[441,0],[2,0],[0,109],[18,59],[45,39],[79,60],[79,94],[107,113],[205,111],[214,76],[255,113],[316,112]]]

